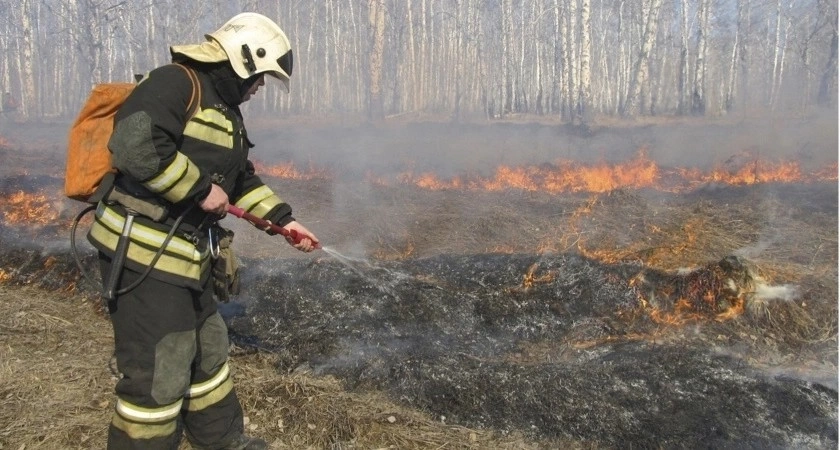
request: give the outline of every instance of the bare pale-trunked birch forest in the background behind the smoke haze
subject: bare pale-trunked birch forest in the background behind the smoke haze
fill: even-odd
[[[0,0],[0,89],[71,119],[93,84],[169,61],[241,11],[274,18],[300,116],[801,114],[837,106],[836,0]]]

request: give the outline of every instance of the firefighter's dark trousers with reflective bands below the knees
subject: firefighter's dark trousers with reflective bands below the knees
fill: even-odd
[[[109,273],[103,254],[100,268]],[[139,277],[123,269],[120,289]],[[227,327],[210,283],[197,292],[146,277],[108,305],[122,374],[109,449],[177,449],[182,428],[198,448],[225,448],[242,436]]]

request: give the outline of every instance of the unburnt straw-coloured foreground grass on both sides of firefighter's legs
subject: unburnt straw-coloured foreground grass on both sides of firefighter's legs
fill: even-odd
[[[116,378],[109,370],[111,326],[94,310],[81,297],[0,284],[0,449],[105,447]],[[333,378],[279,374],[271,354],[233,355],[247,428],[272,448],[556,445],[449,426],[381,394],[347,392]]]

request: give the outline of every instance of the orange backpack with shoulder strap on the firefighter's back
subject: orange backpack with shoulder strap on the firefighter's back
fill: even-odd
[[[200,98],[198,78],[182,66],[192,82],[192,95],[187,112]],[[114,115],[136,84],[100,83],[93,87],[73,126],[70,127],[67,165],[64,171],[64,194],[74,200],[97,203],[110,189],[117,169],[111,165],[108,140],[114,131]],[[106,180],[106,177],[109,177]],[[106,182],[103,183],[103,180]]]

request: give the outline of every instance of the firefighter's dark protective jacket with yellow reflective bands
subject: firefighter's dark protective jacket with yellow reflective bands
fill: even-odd
[[[135,218],[126,266],[145,270],[176,218],[184,214],[150,276],[194,289],[210,275],[206,229],[217,217],[203,212],[198,203],[211,182],[224,189],[232,204],[257,217],[280,226],[294,220],[291,207],[254,173],[248,159],[253,144],[236,101],[241,101],[241,87],[232,87],[232,72],[221,64],[193,65],[200,84],[200,101],[193,111],[188,111],[193,82],[182,67],[151,71],[117,112],[108,144],[119,171],[117,189],[168,210],[160,221]],[[122,205],[100,202],[88,240],[112,256],[126,216]]]

